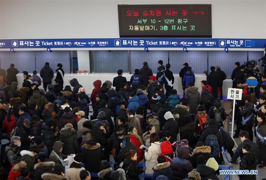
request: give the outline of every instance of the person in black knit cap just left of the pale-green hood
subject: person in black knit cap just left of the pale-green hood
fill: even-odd
[[[219,180],[216,176],[215,170],[205,165],[205,158],[203,155],[198,156],[197,158],[197,171],[200,174],[201,180]]]

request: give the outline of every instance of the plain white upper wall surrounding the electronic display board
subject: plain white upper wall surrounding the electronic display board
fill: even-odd
[[[117,4],[162,3],[212,4],[212,38],[266,38],[265,0],[1,0],[0,39],[119,38]]]

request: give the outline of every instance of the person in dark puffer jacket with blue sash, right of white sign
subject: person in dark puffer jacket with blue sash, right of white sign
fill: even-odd
[[[252,127],[254,124],[254,118],[253,118],[252,112],[254,110],[254,105],[252,104],[250,95],[246,95],[244,99],[245,99],[245,107],[240,109],[239,115],[242,116],[242,119],[243,117],[244,119],[247,119],[249,116],[252,116],[252,117],[245,124],[242,123],[242,130],[249,132],[249,139],[253,141]]]

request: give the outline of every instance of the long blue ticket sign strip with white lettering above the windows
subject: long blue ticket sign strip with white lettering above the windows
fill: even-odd
[[[265,39],[9,39],[0,48],[265,48]]]

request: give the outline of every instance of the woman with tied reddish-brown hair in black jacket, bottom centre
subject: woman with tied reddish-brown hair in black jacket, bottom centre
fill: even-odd
[[[139,180],[138,175],[143,171],[138,169],[137,152],[135,150],[130,150],[128,153],[125,153],[124,165],[128,179]]]

